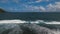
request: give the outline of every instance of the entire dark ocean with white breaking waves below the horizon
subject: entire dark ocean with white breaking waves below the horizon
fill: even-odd
[[[0,13],[0,34],[60,34],[60,12]]]

